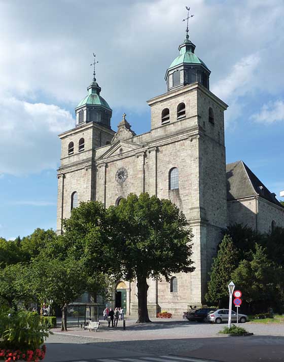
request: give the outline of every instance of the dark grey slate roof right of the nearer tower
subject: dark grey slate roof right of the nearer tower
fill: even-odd
[[[243,161],[226,165],[227,200],[235,200],[248,196],[261,196],[273,204],[283,207],[261,180],[246,166]]]

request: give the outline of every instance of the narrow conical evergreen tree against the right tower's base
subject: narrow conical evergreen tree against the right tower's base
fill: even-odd
[[[222,307],[228,301],[228,283],[231,273],[238,265],[238,251],[229,235],[225,235],[219,245],[217,257],[214,259],[210,280],[208,282],[208,292],[206,300],[210,304]]]

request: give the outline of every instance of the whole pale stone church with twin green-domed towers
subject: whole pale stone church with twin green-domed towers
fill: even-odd
[[[118,205],[129,193],[168,198],[192,228],[193,273],[170,282],[149,280],[149,314],[181,315],[202,305],[212,257],[222,230],[242,223],[260,232],[284,227],[284,208],[242,162],[226,166],[224,112],[227,104],[209,90],[210,70],[196,56],[187,34],[165,74],[167,91],[150,100],[151,129],[136,135],[126,115],[115,132],[112,109],[95,74],[75,108],[76,126],[59,135],[57,232],[80,201]],[[137,312],[135,281],[119,280],[116,306]]]

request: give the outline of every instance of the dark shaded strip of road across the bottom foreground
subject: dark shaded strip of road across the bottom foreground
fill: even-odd
[[[178,355],[220,362],[283,362],[284,337],[218,337],[119,342],[48,343],[46,362]],[[60,356],[60,358],[59,358]]]

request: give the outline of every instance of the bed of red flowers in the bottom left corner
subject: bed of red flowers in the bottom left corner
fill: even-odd
[[[5,362],[17,361],[17,360],[39,362],[40,360],[44,359],[45,353],[46,353],[45,344],[35,350],[31,349],[13,350],[13,349],[4,348],[0,349],[0,360],[5,360]]]

